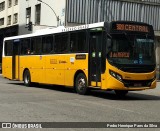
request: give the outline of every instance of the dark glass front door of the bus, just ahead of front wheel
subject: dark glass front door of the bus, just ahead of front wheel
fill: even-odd
[[[101,82],[102,33],[90,33],[89,85],[99,87]]]

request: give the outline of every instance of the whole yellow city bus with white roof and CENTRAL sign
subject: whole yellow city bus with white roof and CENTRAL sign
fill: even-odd
[[[133,21],[44,29],[4,39],[3,77],[32,83],[128,91],[156,87],[153,27]]]

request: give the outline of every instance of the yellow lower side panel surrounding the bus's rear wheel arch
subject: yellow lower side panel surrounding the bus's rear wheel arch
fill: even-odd
[[[23,80],[24,69],[29,69],[31,75],[31,81],[37,83],[44,83],[45,69],[44,63],[45,58],[43,56],[21,56],[20,57],[20,73],[21,80]]]

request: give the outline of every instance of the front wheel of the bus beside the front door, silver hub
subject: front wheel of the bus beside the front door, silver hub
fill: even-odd
[[[85,95],[88,92],[87,78],[83,73],[80,73],[76,77],[75,90],[80,95]]]

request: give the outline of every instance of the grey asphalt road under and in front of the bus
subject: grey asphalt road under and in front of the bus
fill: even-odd
[[[25,87],[0,75],[0,122],[160,122],[160,83],[119,99],[114,92],[83,96],[61,86]]]

